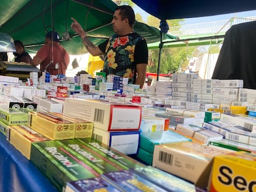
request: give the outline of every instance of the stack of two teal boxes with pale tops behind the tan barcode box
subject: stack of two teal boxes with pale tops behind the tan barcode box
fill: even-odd
[[[158,144],[191,141],[189,138],[173,131],[142,131],[140,133],[139,151],[136,157],[152,165],[154,148]]]

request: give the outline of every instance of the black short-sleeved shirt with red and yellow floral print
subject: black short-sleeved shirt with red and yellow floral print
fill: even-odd
[[[129,83],[135,83],[136,64],[148,62],[147,43],[135,32],[125,36],[115,34],[99,48],[106,53],[103,72],[129,78]]]

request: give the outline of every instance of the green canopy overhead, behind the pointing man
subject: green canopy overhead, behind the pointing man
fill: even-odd
[[[55,30],[63,38],[62,46],[72,55],[85,54],[80,36],[70,25],[74,17],[96,45],[113,35],[111,20],[117,5],[111,0],[1,0],[0,32],[20,40],[28,52],[36,52],[45,41],[46,31]],[[136,22],[134,30],[147,43],[160,41],[160,30]],[[70,35],[70,40],[64,36]],[[164,40],[176,38],[164,35]]]

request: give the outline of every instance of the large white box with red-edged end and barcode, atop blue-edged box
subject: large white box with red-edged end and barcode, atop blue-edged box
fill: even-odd
[[[93,122],[95,127],[106,131],[137,131],[140,127],[142,107],[96,99],[66,98],[63,114],[88,120]]]

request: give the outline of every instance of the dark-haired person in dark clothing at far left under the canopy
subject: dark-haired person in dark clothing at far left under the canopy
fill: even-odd
[[[26,62],[28,64],[31,63],[32,58],[28,54],[28,52],[25,51],[25,48],[23,46],[23,43],[20,40],[14,41],[16,52],[14,52],[15,62]]]

